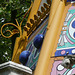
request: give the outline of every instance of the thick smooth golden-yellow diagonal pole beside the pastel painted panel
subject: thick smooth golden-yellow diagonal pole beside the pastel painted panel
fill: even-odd
[[[54,1],[56,3],[57,1],[59,1],[58,9],[55,12],[55,15],[53,17],[51,24],[48,23],[48,25],[50,24],[50,27],[46,32],[34,75],[47,75],[49,62],[51,60],[50,57],[52,56],[53,50],[56,48],[55,46],[57,45],[56,40],[58,38],[57,35],[59,34],[59,31],[60,31],[59,29],[61,27],[60,23],[62,19],[62,14],[65,9],[65,0],[62,0],[62,1],[54,0]],[[54,5],[54,7],[55,6],[56,5]]]

